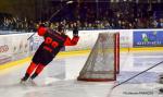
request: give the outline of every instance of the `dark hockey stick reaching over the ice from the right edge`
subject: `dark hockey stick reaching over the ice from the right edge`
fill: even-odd
[[[122,85],[122,84],[124,84],[124,83],[126,83],[126,82],[128,82],[128,81],[135,78],[136,76],[138,76],[138,75],[140,75],[140,74],[142,74],[142,73],[145,73],[145,72],[147,72],[147,71],[149,71],[149,70],[151,70],[151,69],[153,69],[153,68],[155,68],[155,66],[158,66],[158,65],[160,65],[160,64],[162,64],[162,63],[163,63],[163,61],[161,61],[161,62],[154,64],[153,66],[148,68],[147,70],[145,70],[145,71],[142,71],[142,72],[140,72],[140,73],[138,73],[138,74],[136,74],[136,75],[129,77],[129,78],[126,80],[126,81],[123,81],[123,82],[121,82],[121,83],[114,85],[114,86],[111,88],[111,90],[110,90],[109,97],[111,96],[111,93],[113,92],[113,89],[114,89],[115,87],[117,87],[117,86],[120,86],[120,85]]]

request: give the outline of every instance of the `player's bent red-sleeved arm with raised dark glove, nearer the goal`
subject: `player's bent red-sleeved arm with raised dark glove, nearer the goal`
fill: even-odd
[[[64,43],[64,46],[74,46],[78,43],[79,36],[78,36],[78,27],[77,25],[74,26],[73,29],[73,38],[71,39],[68,36]]]

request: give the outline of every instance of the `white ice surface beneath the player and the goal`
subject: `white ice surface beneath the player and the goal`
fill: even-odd
[[[163,97],[158,83],[163,64],[114,88],[114,82],[78,82],[76,77],[87,60],[86,56],[54,59],[35,80],[38,86],[20,85],[29,62],[0,71],[0,97]],[[121,53],[121,74],[117,82],[163,60],[163,52]]]

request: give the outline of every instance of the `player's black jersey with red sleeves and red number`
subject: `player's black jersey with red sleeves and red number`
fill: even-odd
[[[39,49],[47,50],[48,52],[52,53],[53,57],[55,57],[63,46],[74,46],[79,39],[78,36],[74,36],[71,39],[65,34],[60,34],[46,27],[38,28],[38,35],[43,36],[45,38],[45,41],[40,45]]]

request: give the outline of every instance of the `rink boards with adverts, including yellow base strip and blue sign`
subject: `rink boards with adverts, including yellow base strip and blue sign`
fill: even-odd
[[[57,58],[86,54],[93,47],[99,33],[120,33],[121,51],[160,51],[163,50],[162,43],[163,29],[99,29],[99,31],[79,31],[80,39],[77,46],[68,46],[60,52]],[[142,34],[141,34],[142,33]],[[37,50],[42,37],[37,34],[27,40],[29,34],[9,34],[0,37],[0,70],[30,61],[34,52]],[[66,33],[72,37],[72,31]],[[143,41],[143,37],[148,41]],[[18,38],[17,38],[18,37]],[[135,38],[138,37],[138,38]],[[155,38],[158,37],[158,38]],[[149,45],[150,44],[150,45]],[[152,45],[151,45],[152,44]],[[139,45],[139,46],[138,46]]]

